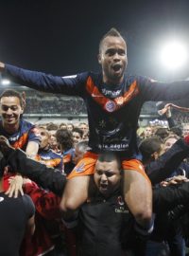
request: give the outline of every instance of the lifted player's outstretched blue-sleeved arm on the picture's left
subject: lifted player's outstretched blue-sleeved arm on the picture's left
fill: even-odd
[[[87,73],[81,73],[74,76],[59,77],[3,63],[0,63],[0,71],[3,78],[8,78],[12,82],[39,91],[73,96],[82,96],[82,85],[87,76]]]

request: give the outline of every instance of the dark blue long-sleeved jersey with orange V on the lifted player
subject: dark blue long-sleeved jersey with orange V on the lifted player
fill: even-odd
[[[119,84],[106,84],[101,73],[56,77],[9,64],[3,75],[40,91],[81,97],[87,106],[92,151],[118,151],[128,158],[140,158],[136,130],[144,102],[189,97],[189,81],[156,82],[125,75]]]

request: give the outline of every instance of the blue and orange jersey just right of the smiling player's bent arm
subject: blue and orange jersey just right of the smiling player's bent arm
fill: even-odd
[[[52,167],[63,172],[63,160],[62,156],[55,153],[51,149],[42,150],[40,149],[38,155],[36,155],[36,160],[43,162],[47,167]]]

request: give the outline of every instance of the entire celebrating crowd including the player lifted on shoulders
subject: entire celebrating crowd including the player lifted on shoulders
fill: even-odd
[[[36,210],[35,228],[32,224],[24,235],[23,226],[16,244],[18,227],[9,225],[9,248],[2,242],[3,226],[2,255],[185,254],[188,232],[181,228],[189,227],[189,135],[171,119],[169,107],[163,111],[168,128],[137,129],[145,101],[186,98],[189,82],[125,75],[127,45],[115,28],[100,41],[98,63],[101,73],[70,77],[0,63],[2,76],[44,92],[78,96],[88,113],[88,123],[78,127],[35,126],[23,118],[24,95],[8,90],[0,96],[1,220],[11,224],[5,211],[12,194],[20,199],[25,192]],[[30,205],[28,222],[34,219]]]

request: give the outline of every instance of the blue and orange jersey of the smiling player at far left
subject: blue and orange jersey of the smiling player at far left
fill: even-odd
[[[20,119],[19,129],[16,133],[10,135],[8,134],[3,126],[2,121],[0,121],[0,134],[9,139],[9,144],[15,149],[26,150],[26,145],[29,141],[35,141],[40,144],[40,136],[38,129],[32,123],[26,121],[25,119]]]

